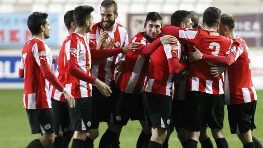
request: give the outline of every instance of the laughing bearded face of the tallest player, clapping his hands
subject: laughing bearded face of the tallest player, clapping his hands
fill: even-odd
[[[115,23],[118,13],[114,14],[114,7],[100,7],[100,20],[104,28],[110,28]]]

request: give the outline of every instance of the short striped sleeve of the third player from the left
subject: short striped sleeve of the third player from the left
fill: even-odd
[[[79,51],[80,51],[80,46],[78,45],[78,40],[76,38],[72,38],[70,40],[70,45],[65,46],[65,52],[67,55],[67,61],[70,59],[73,60],[79,60]]]

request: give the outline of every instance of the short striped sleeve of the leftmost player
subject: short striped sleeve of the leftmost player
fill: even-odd
[[[37,42],[32,48],[32,53],[39,66],[48,64],[47,53],[46,53],[44,42]]]

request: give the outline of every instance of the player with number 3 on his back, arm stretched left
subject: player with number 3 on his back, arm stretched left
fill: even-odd
[[[219,27],[221,10],[208,7],[203,14],[205,30],[163,26],[161,30],[179,37],[201,49],[209,55],[224,55],[231,44],[231,39],[216,32]],[[193,52],[193,51],[189,51]],[[223,76],[210,75],[212,64],[196,61],[190,64],[189,92],[186,96],[187,147],[197,147],[200,130],[206,124],[211,128],[217,147],[228,147],[222,128],[224,121]]]

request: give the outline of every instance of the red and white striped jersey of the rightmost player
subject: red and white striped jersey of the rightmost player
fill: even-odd
[[[233,39],[227,54],[235,57],[235,62],[225,71],[225,100],[227,104],[241,104],[257,100],[256,90],[251,80],[250,54],[244,39]]]

